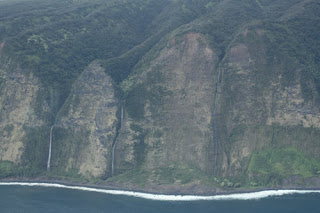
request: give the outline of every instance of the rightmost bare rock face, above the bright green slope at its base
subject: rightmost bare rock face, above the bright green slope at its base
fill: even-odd
[[[294,147],[318,159],[319,151],[315,150],[319,143],[310,132],[318,134],[319,105],[315,98],[304,98],[297,61],[285,58],[287,62],[282,62],[275,56],[267,61],[267,32],[262,32],[246,29],[241,42],[231,45],[222,66],[220,131],[225,138],[221,157],[225,176],[247,172],[254,152],[275,147]],[[254,42],[244,38],[248,33],[256,39]],[[283,77],[288,73],[290,81],[288,76]],[[312,84],[310,87],[315,88]],[[318,96],[315,90],[313,96]]]

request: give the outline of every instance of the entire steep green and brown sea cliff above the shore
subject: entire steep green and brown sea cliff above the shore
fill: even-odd
[[[318,1],[24,3],[0,13],[1,178],[319,186]]]

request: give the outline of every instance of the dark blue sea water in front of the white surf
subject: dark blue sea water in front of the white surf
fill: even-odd
[[[0,186],[0,212],[320,213],[320,194],[249,201],[165,202],[70,189]]]

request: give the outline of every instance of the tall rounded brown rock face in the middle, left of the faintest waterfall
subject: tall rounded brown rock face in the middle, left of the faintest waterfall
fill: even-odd
[[[145,115],[154,120],[152,133],[146,140],[147,166],[183,162],[210,171],[213,165],[209,163],[208,151],[212,143],[212,94],[217,57],[199,34],[183,36],[180,44],[172,42],[172,47],[164,49],[149,70],[154,73],[155,66],[163,66],[158,72],[164,81],[156,87],[148,85],[147,90],[163,88],[167,95],[159,103],[146,101]]]

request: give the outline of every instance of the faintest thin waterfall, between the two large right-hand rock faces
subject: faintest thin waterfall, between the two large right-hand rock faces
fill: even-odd
[[[218,94],[219,94],[219,87],[220,87],[220,75],[221,75],[221,62],[218,67],[218,80],[216,84],[216,91],[214,96],[214,105],[213,105],[213,146],[214,146],[214,173],[217,171],[217,164],[218,164],[218,154],[219,154],[219,137],[218,137],[218,130],[217,130],[217,119],[216,119],[216,111],[217,111],[217,101],[218,101]]]

